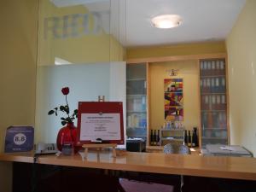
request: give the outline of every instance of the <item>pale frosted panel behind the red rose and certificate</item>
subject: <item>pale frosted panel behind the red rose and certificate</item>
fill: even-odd
[[[47,113],[66,103],[62,87],[70,88],[67,101],[71,110],[78,108],[78,102],[96,102],[98,96],[125,106],[125,62],[38,67],[36,143],[55,143],[62,116]]]

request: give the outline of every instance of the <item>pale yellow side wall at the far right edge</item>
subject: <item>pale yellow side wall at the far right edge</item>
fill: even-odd
[[[256,155],[256,1],[247,0],[226,40],[231,143]]]

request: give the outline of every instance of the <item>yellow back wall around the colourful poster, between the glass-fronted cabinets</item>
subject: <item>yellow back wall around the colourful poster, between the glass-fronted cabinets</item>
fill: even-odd
[[[177,76],[170,77],[166,70],[178,69]],[[199,70],[197,61],[169,61],[149,64],[150,81],[150,129],[160,129],[165,122],[164,79],[183,79],[183,125],[192,130],[199,127]]]

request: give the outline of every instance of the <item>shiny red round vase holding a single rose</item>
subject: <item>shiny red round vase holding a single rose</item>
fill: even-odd
[[[58,132],[57,136],[57,148],[61,151],[63,144],[72,144],[75,148],[77,143],[77,127],[73,123],[67,123]]]

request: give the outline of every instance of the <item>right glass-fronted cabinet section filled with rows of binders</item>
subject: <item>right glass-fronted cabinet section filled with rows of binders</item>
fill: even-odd
[[[227,109],[227,66],[225,59],[200,60],[200,96],[201,96],[201,147],[212,143],[228,142]],[[205,63],[207,61],[207,64]],[[210,69],[215,65],[216,69]],[[212,64],[213,63],[213,64]],[[215,64],[214,64],[215,63]],[[219,67],[217,68],[217,63]],[[221,64],[222,63],[222,64]],[[222,67],[220,66],[222,65]],[[209,69],[207,69],[209,67]],[[217,85],[218,84],[218,85]],[[217,102],[219,100],[219,102]],[[208,101],[208,103],[205,103]],[[224,103],[222,103],[224,101]],[[213,104],[214,103],[214,104]]]

